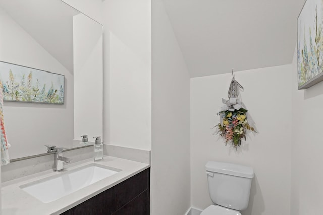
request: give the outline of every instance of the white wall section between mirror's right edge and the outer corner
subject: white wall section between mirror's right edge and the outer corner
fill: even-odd
[[[105,143],[151,149],[151,3],[105,0]]]

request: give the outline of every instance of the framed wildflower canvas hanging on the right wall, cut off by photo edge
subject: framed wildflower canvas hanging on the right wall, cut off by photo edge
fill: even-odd
[[[307,0],[297,19],[298,89],[323,81],[323,3]]]

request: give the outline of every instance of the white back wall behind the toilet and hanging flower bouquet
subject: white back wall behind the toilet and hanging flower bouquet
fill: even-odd
[[[231,74],[191,79],[191,204],[204,209],[209,198],[205,164],[223,161],[251,166],[255,172],[249,207],[243,215],[290,214],[291,66],[235,73],[244,86],[242,100],[260,133],[236,152],[212,135],[221,98],[228,98]],[[310,213],[308,213],[310,214]]]

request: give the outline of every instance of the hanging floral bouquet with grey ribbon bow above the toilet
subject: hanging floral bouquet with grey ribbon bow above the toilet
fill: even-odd
[[[224,139],[226,146],[230,143],[236,150],[240,147],[242,139],[247,139],[249,132],[258,133],[246,106],[240,100],[240,89],[243,90],[243,87],[234,79],[232,71],[232,81],[228,91],[229,99],[222,99],[224,106],[217,113],[220,116],[220,122],[216,125],[214,133]]]

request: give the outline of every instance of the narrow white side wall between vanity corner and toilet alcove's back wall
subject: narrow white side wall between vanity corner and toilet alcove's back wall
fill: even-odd
[[[190,207],[190,77],[163,1],[152,1],[151,214]]]

